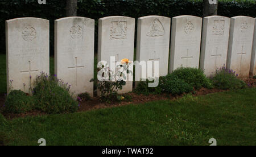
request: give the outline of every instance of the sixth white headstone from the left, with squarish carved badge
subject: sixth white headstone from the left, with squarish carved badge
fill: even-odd
[[[214,75],[217,68],[226,65],[230,19],[224,16],[204,18],[200,68],[206,76]]]

